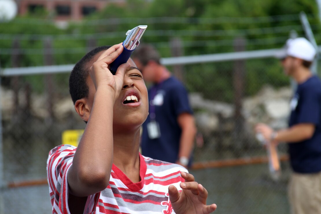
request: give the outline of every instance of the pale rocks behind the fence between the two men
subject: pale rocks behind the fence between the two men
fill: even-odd
[[[265,86],[255,96],[244,98],[241,112],[245,135],[253,138],[253,129],[257,123],[266,123],[274,129],[287,127],[291,97],[291,87],[275,90],[271,86]],[[233,133],[236,120],[234,105],[206,100],[199,93],[191,93],[189,98],[195,110],[198,131],[204,137],[215,138],[217,132],[224,132],[226,135]]]

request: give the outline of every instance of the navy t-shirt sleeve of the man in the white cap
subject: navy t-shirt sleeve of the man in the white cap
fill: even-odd
[[[315,90],[302,93],[298,123],[312,123],[320,125],[320,96]],[[300,101],[299,101],[300,102]]]

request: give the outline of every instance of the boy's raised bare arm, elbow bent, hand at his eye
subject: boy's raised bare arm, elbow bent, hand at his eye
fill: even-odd
[[[89,88],[93,84],[92,90],[96,91],[93,101],[89,95],[89,103],[79,107],[82,119],[88,123],[67,175],[69,191],[74,196],[98,193],[109,184],[113,162],[113,107],[129,64],[119,66],[116,75],[109,71],[108,64],[120,55],[122,49],[121,44],[110,47],[90,68],[91,79],[88,78],[87,84]]]

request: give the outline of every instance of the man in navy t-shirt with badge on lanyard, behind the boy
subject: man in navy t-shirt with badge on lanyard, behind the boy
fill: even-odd
[[[148,90],[149,116],[143,124],[142,154],[154,159],[189,166],[195,122],[183,84],[160,64],[159,53],[152,46],[140,46],[132,56]]]

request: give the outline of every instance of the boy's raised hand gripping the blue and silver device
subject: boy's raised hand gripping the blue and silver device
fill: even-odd
[[[96,90],[101,86],[108,86],[115,92],[115,99],[123,87],[126,69],[130,65],[128,63],[120,65],[115,75],[109,71],[108,67],[122,53],[123,48],[122,43],[108,48],[90,68],[90,76]]]

